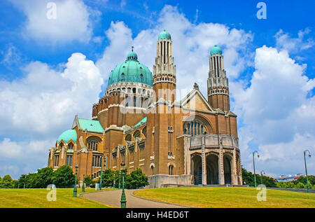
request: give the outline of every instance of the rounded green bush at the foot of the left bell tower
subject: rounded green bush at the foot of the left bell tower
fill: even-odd
[[[141,169],[136,169],[125,178],[125,187],[127,189],[137,189],[148,185],[148,176],[142,173]]]

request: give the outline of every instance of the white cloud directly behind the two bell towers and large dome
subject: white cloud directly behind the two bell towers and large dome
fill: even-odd
[[[253,36],[244,30],[230,29],[217,23],[190,22],[183,13],[174,6],[165,6],[160,12],[158,22],[152,29],[144,29],[132,38],[132,30],[124,22],[111,22],[106,31],[110,43],[97,61],[97,67],[107,81],[111,70],[116,64],[125,60],[127,53],[134,46],[139,62],[149,69],[155,63],[156,43],[158,34],[166,29],[172,36],[174,63],[177,69],[177,88],[191,90],[197,82],[200,89],[207,95],[207,77],[209,71],[209,53],[214,45],[224,49],[225,67],[231,71],[231,78],[237,78],[244,70],[247,58],[246,46],[251,43]],[[149,56],[150,55],[150,56]],[[229,78],[230,78],[229,77]],[[178,95],[181,99],[185,95]]]

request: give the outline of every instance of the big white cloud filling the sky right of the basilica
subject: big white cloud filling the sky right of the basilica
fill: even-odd
[[[242,163],[252,169],[251,152],[260,152],[258,169],[269,174],[302,173],[305,148],[314,153],[315,98],[307,98],[314,79],[304,75],[287,50],[263,46],[255,51],[251,85],[242,89],[232,82],[239,129]],[[231,90],[232,90],[231,89]],[[252,146],[252,147],[251,147]],[[315,165],[309,165],[314,174]]]

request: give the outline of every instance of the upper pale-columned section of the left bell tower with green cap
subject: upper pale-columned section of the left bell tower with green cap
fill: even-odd
[[[156,101],[161,97],[165,101],[174,102],[176,99],[176,65],[172,50],[171,34],[163,31],[159,34],[157,55],[153,65],[153,91]]]

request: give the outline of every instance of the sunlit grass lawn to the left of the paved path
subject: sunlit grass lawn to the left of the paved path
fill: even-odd
[[[93,192],[94,188],[86,188],[85,192]],[[109,207],[105,204],[93,202],[83,197],[73,197],[72,188],[57,188],[56,201],[48,201],[46,195],[50,190],[46,189],[0,189],[0,208],[90,208]],[[81,189],[78,188],[78,194]]]

